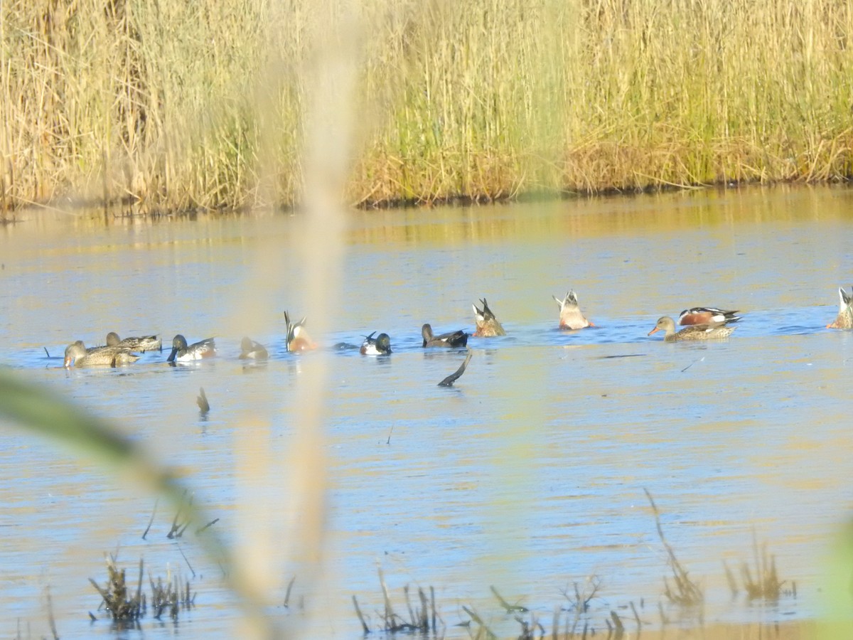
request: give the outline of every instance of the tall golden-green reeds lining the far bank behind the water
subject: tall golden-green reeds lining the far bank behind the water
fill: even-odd
[[[348,203],[853,173],[844,0],[355,10]],[[3,3],[0,206],[298,204],[316,82],[307,34],[327,18],[308,0]]]

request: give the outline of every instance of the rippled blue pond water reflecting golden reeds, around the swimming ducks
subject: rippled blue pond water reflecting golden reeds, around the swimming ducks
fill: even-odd
[[[468,620],[462,606],[517,635],[490,585],[548,627],[554,607],[568,607],[562,591],[589,576],[601,579],[590,603],[596,627],[630,602],[659,623],[668,569],[644,489],[705,591],[705,620],[822,614],[830,546],[853,505],[853,332],[825,329],[838,287],[853,282],[853,190],[348,215],[334,330],[315,334],[321,347],[300,356],[285,350],[282,315],[307,313],[307,276],[292,250],[299,216],[23,212],[0,228],[0,364],[113,419],[177,468],[223,537],[286,549],[299,514],[248,517],[247,478],[256,456],[287,460],[300,375],[310,358],[327,358],[323,570],[305,585],[298,563],[285,561],[272,587],[283,602],[297,577],[299,607],[270,611],[294,620],[294,637],[359,637],[352,595],[375,625],[377,567],[399,613],[403,585],[435,587],[450,638],[468,636],[455,626]],[[275,269],[259,261],[270,251]],[[570,288],[595,327],[557,329],[552,295]],[[484,296],[507,335],[471,338],[465,375],[437,387],[464,352],[421,349],[421,324],[473,331],[472,303]],[[695,305],[738,309],[743,319],[727,340],[647,336],[658,317]],[[374,330],[391,335],[390,357],[332,348]],[[102,344],[109,331],[158,333],[164,346],[178,333],[215,335],[218,357],[172,368],[165,349],[125,368],[61,369],[69,342]],[[243,335],[264,343],[270,360],[241,362]],[[212,405],[206,416],[199,387]],[[87,579],[103,583],[104,555],[117,553],[134,585],[143,557],[155,579],[194,572],[197,592],[177,625],[148,617],[122,637],[235,637],[240,611],[221,570],[191,536],[165,537],[174,514],[163,501],[143,540],[155,497],[5,426],[7,633],[19,620],[48,635],[49,586],[62,638],[112,637]],[[287,495],[292,481],[282,469],[271,496]],[[796,581],[796,597],[759,606],[741,591],[733,601],[722,561],[740,573],[753,539],[767,544],[780,579]],[[89,611],[102,620],[90,623]]]

